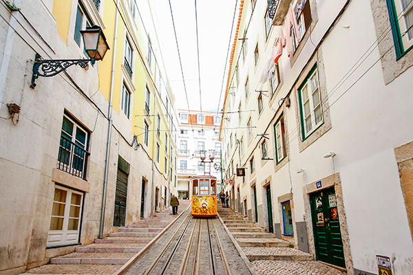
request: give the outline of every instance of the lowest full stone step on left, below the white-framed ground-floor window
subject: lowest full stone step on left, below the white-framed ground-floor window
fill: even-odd
[[[50,259],[52,264],[92,264],[92,265],[124,265],[135,252],[88,253],[74,252],[65,256]]]

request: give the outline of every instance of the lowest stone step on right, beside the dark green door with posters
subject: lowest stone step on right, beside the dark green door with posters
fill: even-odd
[[[242,248],[250,261],[313,261],[314,257],[295,248]]]

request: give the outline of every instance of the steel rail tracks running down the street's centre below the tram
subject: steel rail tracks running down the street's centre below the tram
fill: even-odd
[[[188,211],[151,264],[134,274],[232,275],[215,222],[220,223],[218,219],[193,218]]]

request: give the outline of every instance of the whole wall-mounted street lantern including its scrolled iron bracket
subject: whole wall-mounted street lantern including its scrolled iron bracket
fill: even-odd
[[[72,65],[79,65],[82,68],[87,67],[87,63],[95,63],[95,61],[103,60],[109,45],[107,45],[105,35],[102,29],[94,25],[93,27],[87,27],[86,30],[81,30],[83,36],[83,45],[85,46],[85,52],[89,55],[90,59],[42,59],[40,54],[36,54],[33,64],[32,84],[30,87],[34,89],[36,83],[34,81],[39,76],[50,77],[60,74],[67,67]]]

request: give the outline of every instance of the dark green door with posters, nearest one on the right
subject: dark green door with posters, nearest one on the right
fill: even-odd
[[[310,195],[317,260],[346,267],[334,187]]]

